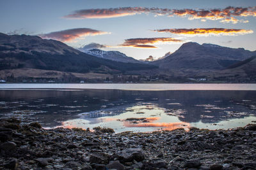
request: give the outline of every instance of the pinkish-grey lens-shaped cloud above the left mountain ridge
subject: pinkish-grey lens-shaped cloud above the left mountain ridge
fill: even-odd
[[[41,38],[51,38],[63,42],[74,41],[78,38],[83,38],[84,36],[96,36],[100,34],[109,34],[108,32],[98,31],[89,28],[76,28],[76,29],[66,29],[63,31],[50,32],[47,34],[40,34]]]

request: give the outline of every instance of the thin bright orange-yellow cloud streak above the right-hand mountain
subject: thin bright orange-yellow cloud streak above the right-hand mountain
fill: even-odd
[[[172,34],[182,34],[188,36],[209,36],[209,35],[225,35],[236,36],[243,34],[251,34],[252,30],[245,29],[224,29],[224,28],[196,28],[196,29],[157,29],[156,32],[170,32]]]

